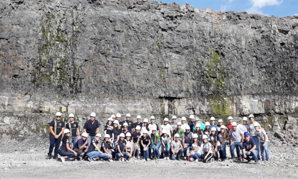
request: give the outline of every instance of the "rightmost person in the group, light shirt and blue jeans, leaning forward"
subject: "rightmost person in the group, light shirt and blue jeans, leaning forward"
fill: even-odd
[[[260,151],[262,161],[269,161],[269,139],[264,129],[261,128],[259,123],[254,123],[255,134],[260,138]],[[265,158],[266,157],[266,158]]]

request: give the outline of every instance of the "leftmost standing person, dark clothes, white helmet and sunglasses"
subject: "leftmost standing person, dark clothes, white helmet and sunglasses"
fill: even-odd
[[[56,112],[56,119],[52,120],[50,123],[49,131],[50,131],[50,148],[49,148],[49,153],[46,159],[52,159],[52,152],[54,150],[54,157],[53,159],[58,160],[58,149],[60,146],[62,134],[65,129],[65,123],[61,121],[61,112]]]

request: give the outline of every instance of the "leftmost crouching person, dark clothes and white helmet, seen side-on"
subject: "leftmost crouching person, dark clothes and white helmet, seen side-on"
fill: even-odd
[[[58,150],[59,155],[62,156],[60,158],[62,162],[65,162],[65,159],[74,158],[75,156],[77,156],[77,153],[70,147],[70,136],[71,131],[69,129],[65,129],[64,136],[62,138],[62,145],[61,148]]]

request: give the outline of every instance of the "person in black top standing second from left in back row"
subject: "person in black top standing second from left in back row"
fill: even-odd
[[[70,144],[71,146],[74,146],[74,144],[76,143],[76,141],[78,139],[80,139],[79,136],[79,128],[78,128],[78,123],[76,121],[74,121],[74,114],[71,113],[69,115],[69,122],[66,123],[65,128],[69,129],[71,131],[71,137],[69,138]]]

